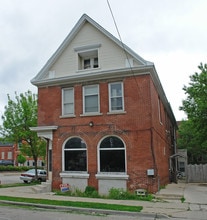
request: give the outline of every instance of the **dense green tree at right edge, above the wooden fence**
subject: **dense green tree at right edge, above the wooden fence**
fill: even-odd
[[[197,158],[195,163],[207,153],[207,64],[201,63],[198,68],[201,72],[191,75],[189,86],[183,87],[187,98],[180,110],[187,114],[188,121],[182,122],[178,131],[179,147],[187,148]]]

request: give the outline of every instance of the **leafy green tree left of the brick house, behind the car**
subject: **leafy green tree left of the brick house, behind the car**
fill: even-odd
[[[37,95],[31,91],[21,93],[15,92],[15,100],[8,95],[8,104],[2,116],[3,126],[0,127],[1,135],[5,141],[22,143],[27,146],[27,154],[33,157],[37,177],[37,160],[41,152],[46,151],[46,144],[37,133],[30,127],[37,126]],[[23,151],[23,149],[22,149]]]

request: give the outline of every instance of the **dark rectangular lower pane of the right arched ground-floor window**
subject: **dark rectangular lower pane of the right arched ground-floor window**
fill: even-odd
[[[100,151],[101,172],[125,172],[124,150],[101,150]]]

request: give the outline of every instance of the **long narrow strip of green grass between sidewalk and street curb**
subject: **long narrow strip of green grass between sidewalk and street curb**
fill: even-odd
[[[11,196],[0,196],[0,200],[24,202],[24,203],[32,203],[32,204],[35,203],[35,204],[44,204],[44,205],[65,206],[65,207],[79,207],[79,208],[116,210],[116,211],[118,210],[118,211],[128,211],[128,212],[140,212],[143,209],[142,206],[126,206],[126,205],[94,203],[94,202],[59,201],[59,200],[21,198],[21,197],[11,197]]]

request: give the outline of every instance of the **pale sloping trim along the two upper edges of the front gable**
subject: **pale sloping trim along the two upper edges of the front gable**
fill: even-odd
[[[66,49],[66,47],[70,44],[70,42],[75,38],[76,34],[79,30],[84,26],[86,22],[89,22],[92,26],[98,29],[102,34],[111,39],[115,44],[124,49],[126,53],[130,54],[135,60],[139,61],[143,66],[153,66],[152,62],[144,60],[137,53],[131,50],[127,45],[114,37],[110,32],[105,30],[102,26],[100,26],[97,22],[95,22],[92,18],[90,18],[87,14],[83,14],[76,25],[73,27],[71,32],[62,42],[60,47],[55,51],[55,53],[51,56],[51,58],[47,61],[47,63],[43,66],[40,72],[31,80],[31,83],[34,85],[38,85],[38,82],[44,78],[45,74],[49,71],[50,67],[57,61],[62,52]]]

